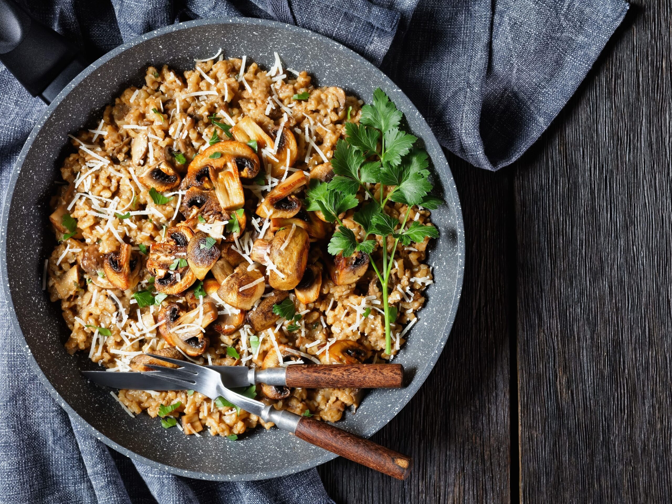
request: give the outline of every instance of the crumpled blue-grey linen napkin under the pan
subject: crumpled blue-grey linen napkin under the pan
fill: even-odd
[[[623,19],[622,0],[24,0],[44,24],[106,52],[166,24],[248,15],[320,32],[380,66],[444,146],[499,169],[540,136]],[[0,191],[44,104],[0,64]],[[4,300],[0,300],[4,304]],[[47,394],[0,311],[0,503],[331,503],[316,470],[205,482],[130,460]]]

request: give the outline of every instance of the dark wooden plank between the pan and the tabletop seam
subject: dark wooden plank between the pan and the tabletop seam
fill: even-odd
[[[411,403],[372,437],[413,457],[397,481],[337,458],[319,468],[337,503],[509,501],[509,331],[507,272],[515,259],[513,185],[449,156],[464,228],[466,270],[456,323],[444,353]],[[516,477],[517,479],[517,477]]]

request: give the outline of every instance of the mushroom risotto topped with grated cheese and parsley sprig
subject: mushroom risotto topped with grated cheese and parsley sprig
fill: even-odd
[[[110,372],[392,360],[432,283],[427,154],[376,90],[371,105],[306,72],[218,53],[149,67],[71,135],[44,284]],[[383,243],[386,244],[385,250]],[[251,386],[276,409],[337,421],[353,388]],[[235,439],[259,417],[199,392],[120,390],[186,434]]]

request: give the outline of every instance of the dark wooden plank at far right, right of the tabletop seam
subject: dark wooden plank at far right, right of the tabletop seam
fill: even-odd
[[[672,500],[669,2],[518,164],[521,500]]]

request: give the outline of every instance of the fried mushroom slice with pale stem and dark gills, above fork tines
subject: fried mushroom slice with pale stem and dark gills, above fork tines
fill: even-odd
[[[190,312],[184,312],[177,303],[171,303],[159,311],[159,322],[165,320],[161,335],[166,342],[181,351],[196,357],[202,355],[210,343],[204,329],[217,318],[217,308],[212,302],[204,302]]]

